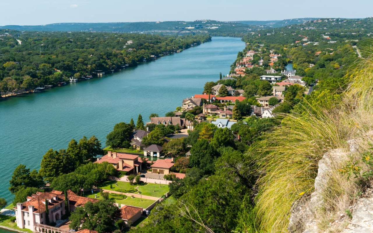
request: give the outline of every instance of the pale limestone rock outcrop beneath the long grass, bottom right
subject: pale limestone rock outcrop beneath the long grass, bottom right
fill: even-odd
[[[348,159],[350,152],[355,151],[354,141],[349,141],[350,151],[333,149],[323,155],[319,161],[319,169],[315,179],[315,190],[311,196],[305,196],[294,204],[288,230],[291,233],[342,232],[342,233],[372,233],[373,232],[373,192],[370,189],[363,198],[358,199],[352,212],[351,223],[346,226],[347,216],[341,213],[338,220],[329,224],[328,229],[320,230],[317,226],[316,210],[323,207],[322,193],[326,188],[330,174],[339,164]],[[341,220],[342,219],[342,220]]]

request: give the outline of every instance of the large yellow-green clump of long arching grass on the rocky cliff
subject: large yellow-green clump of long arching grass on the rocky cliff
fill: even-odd
[[[255,211],[264,232],[288,232],[292,205],[313,192],[318,162],[325,152],[339,148],[346,151],[345,162],[354,164],[353,170],[364,167],[361,154],[369,144],[373,145],[373,60],[364,59],[346,78],[349,85],[341,101],[332,101],[325,108],[310,104],[309,98],[304,100],[301,114],[280,116],[281,125],[257,144]],[[357,141],[354,152],[349,150],[351,139]],[[319,217],[330,217],[333,211],[344,212],[358,196],[360,180],[348,179],[338,172],[344,170],[341,161],[332,161],[332,166],[333,172],[322,193],[325,207],[316,210],[321,214]]]

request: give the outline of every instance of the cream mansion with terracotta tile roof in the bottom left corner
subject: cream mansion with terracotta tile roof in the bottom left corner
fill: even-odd
[[[88,201],[98,201],[92,198],[79,196],[71,190],[68,191],[70,211],[75,210],[78,201],[70,202],[70,199],[79,199],[79,204],[84,205]],[[15,211],[16,222],[19,228],[27,228],[34,231],[35,224],[46,224],[46,200],[48,205],[48,218],[51,223],[61,219],[61,216],[66,213],[65,210],[65,195],[62,191],[52,190],[51,192],[37,192],[27,197],[27,200],[22,203],[17,203],[13,209]]]

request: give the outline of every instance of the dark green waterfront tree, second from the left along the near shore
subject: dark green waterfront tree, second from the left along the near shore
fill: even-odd
[[[54,178],[62,174],[63,158],[57,151],[49,149],[43,156],[39,173],[47,182],[52,182]]]

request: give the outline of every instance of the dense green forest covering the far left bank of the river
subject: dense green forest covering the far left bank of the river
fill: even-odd
[[[1,30],[0,35],[1,92],[56,85],[97,70],[117,71],[211,40],[206,34],[178,37]]]

